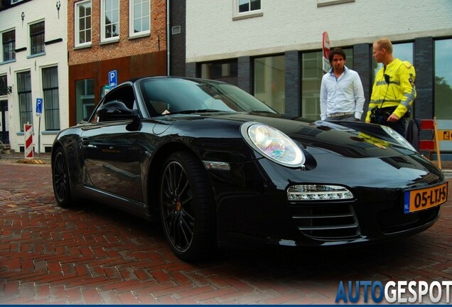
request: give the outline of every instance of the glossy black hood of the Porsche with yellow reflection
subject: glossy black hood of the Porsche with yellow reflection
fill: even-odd
[[[244,122],[267,124],[290,136],[291,139],[297,141],[301,148],[310,154],[335,153],[350,158],[382,158],[413,154],[413,151],[400,146],[382,132],[380,126],[372,124],[354,124],[352,129],[332,122],[313,122],[285,114],[247,112],[190,114],[173,117],[176,122],[178,122],[178,119],[201,118],[208,122],[212,121],[207,125],[210,132],[213,132],[211,129],[215,131],[215,129],[221,130],[225,126],[230,126],[231,122],[235,122],[235,125]],[[220,121],[223,124],[219,124]],[[385,136],[386,139],[382,136]]]

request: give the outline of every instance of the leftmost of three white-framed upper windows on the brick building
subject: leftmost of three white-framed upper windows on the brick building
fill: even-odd
[[[75,46],[91,44],[91,0],[75,3]]]

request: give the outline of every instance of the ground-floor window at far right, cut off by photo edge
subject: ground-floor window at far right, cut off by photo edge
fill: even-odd
[[[437,119],[452,119],[452,39],[435,41],[435,116]]]

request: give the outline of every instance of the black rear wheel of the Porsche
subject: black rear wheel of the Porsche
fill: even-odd
[[[52,159],[52,181],[53,193],[58,205],[70,207],[72,197],[70,195],[68,163],[61,147],[56,149],[55,156]]]

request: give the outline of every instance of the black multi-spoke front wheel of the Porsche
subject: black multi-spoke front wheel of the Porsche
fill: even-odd
[[[171,154],[163,166],[161,221],[168,244],[184,261],[207,257],[215,247],[215,205],[205,168],[186,151]]]

